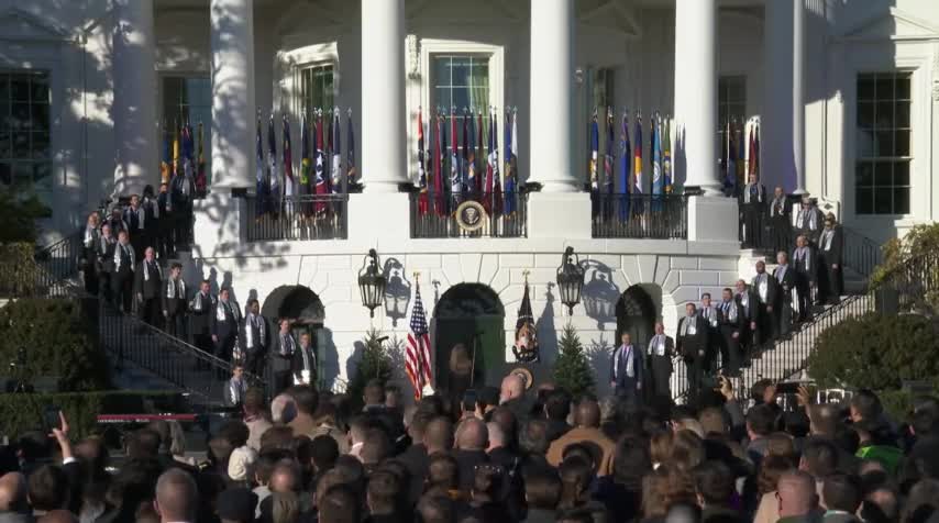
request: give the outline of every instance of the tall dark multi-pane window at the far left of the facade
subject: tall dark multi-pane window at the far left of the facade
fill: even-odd
[[[0,186],[52,203],[47,71],[0,70]]]

